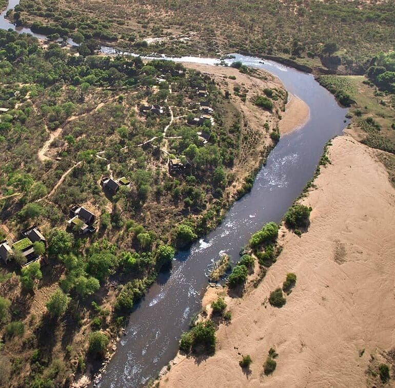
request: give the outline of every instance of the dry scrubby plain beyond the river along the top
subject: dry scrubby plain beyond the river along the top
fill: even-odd
[[[372,55],[392,48],[395,24],[395,5],[389,1],[22,0],[17,11],[23,24],[36,22],[37,32],[79,31],[86,40],[100,38],[141,52],[242,50],[308,66],[340,66],[339,71],[360,71]],[[337,46],[326,45],[330,42]]]

